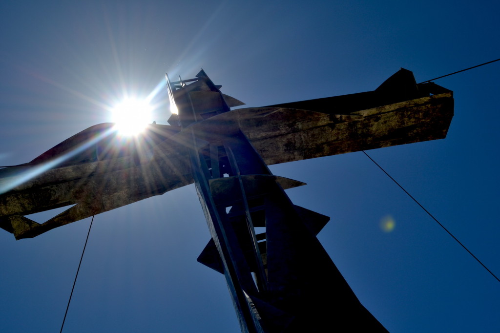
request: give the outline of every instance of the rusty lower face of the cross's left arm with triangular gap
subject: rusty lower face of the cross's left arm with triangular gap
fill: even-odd
[[[192,183],[182,142],[166,137],[154,147],[141,148],[144,151],[140,154],[48,170],[44,169],[44,163],[0,169],[4,173],[0,178],[2,188],[28,177],[27,172],[40,170],[39,174],[0,195],[0,226],[12,232],[16,239],[33,237]],[[91,154],[83,151],[81,155]],[[75,205],[41,224],[24,217],[70,204]]]

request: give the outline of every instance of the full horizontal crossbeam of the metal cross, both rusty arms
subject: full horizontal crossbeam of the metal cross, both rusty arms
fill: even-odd
[[[398,73],[373,91],[208,111],[203,121],[188,118],[184,126],[190,124],[201,140],[241,130],[266,164],[445,137],[453,115],[452,92],[433,83],[413,84],[408,71]],[[404,84],[391,82],[401,77]],[[187,87],[194,89],[193,84],[202,83]],[[203,89],[196,93],[209,104],[216,106],[221,99],[231,106],[242,104]],[[33,237],[192,183],[187,153],[192,143],[185,130],[150,125],[141,144],[119,146],[111,129],[109,123],[89,127],[31,162],[1,168],[0,227],[16,239]],[[76,205],[41,224],[24,217],[69,204]]]

